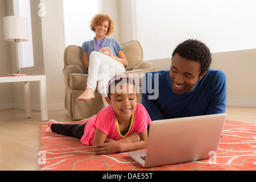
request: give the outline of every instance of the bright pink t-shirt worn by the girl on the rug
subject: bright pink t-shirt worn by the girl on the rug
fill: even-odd
[[[126,136],[129,136],[134,131],[142,133],[142,131],[146,130],[147,126],[150,125],[150,122],[151,119],[145,107],[142,104],[137,103],[137,108],[134,111],[133,125]],[[123,138],[118,133],[115,112],[111,106],[102,109],[96,117],[93,117],[86,123],[84,135],[82,135],[82,138],[80,139],[81,142],[87,145],[93,145],[96,128],[105,133],[108,139],[118,140]]]

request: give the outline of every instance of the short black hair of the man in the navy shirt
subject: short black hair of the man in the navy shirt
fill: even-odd
[[[207,72],[212,63],[212,54],[209,48],[199,40],[188,39],[183,43],[180,43],[172,53],[172,57],[175,54],[185,59],[197,61],[201,64],[200,75]]]

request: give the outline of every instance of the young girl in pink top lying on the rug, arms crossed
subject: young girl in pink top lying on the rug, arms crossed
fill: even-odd
[[[137,103],[137,83],[129,76],[115,76],[107,86],[109,106],[96,117],[79,125],[48,122],[58,134],[80,139],[93,145],[96,154],[113,154],[132,151],[147,146],[147,126],[151,119],[146,109]]]

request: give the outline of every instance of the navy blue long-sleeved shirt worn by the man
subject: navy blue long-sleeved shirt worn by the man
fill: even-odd
[[[221,70],[209,69],[191,92],[175,94],[170,70],[146,73],[142,81],[142,104],[152,121],[225,113],[226,75]]]

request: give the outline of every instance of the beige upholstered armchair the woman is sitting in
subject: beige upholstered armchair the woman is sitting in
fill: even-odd
[[[139,85],[139,98],[141,102],[141,83],[145,73],[156,71],[154,64],[143,60],[141,44],[138,41],[131,41],[122,44],[123,53],[128,60],[125,75],[130,75],[137,80]],[[79,46],[68,46],[64,52],[64,69],[65,76],[65,108],[68,110],[73,120],[88,118],[96,115],[104,104],[101,94],[95,90],[95,98],[88,101],[76,101],[86,88],[88,70],[84,68],[82,62],[82,52]]]

